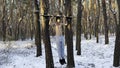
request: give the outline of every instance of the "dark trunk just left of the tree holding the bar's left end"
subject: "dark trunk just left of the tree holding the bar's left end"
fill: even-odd
[[[38,0],[34,0],[35,4],[35,44],[37,46],[37,57],[42,55],[42,49],[41,49],[41,29],[40,29],[40,16],[39,16],[39,5]]]

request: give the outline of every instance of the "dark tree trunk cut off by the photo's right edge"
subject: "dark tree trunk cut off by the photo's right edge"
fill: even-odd
[[[114,60],[113,66],[118,67],[120,63],[120,0],[117,0],[118,4],[118,14],[119,14],[119,23],[117,24],[116,29],[116,40],[115,40],[115,49],[114,49]]]

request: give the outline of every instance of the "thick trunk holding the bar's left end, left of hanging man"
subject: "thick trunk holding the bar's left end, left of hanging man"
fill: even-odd
[[[49,35],[49,0],[42,0],[43,11],[44,11],[44,22],[42,23],[43,29],[43,41],[45,44],[45,57],[46,57],[46,68],[54,68],[52,49],[50,44],[50,35]]]

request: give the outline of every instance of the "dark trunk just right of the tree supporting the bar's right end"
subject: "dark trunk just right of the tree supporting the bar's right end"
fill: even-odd
[[[76,47],[77,55],[81,55],[81,19],[82,19],[82,0],[78,0],[78,14],[77,14],[77,25],[76,25]]]

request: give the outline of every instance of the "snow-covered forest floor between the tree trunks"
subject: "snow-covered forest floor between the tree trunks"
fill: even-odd
[[[96,39],[85,40],[82,37],[82,55],[77,56],[75,51],[75,68],[113,68],[113,53],[115,36],[110,36],[110,43],[104,44],[104,36],[100,36],[100,42]],[[55,38],[51,37],[54,65],[61,68],[58,60]],[[34,41],[0,41],[0,68],[45,68],[45,52],[42,45],[43,55],[35,57],[36,47]],[[65,49],[66,54],[66,49]]]

